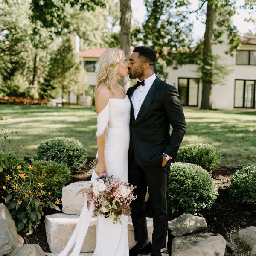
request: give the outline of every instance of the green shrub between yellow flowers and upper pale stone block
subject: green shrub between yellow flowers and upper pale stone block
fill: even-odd
[[[52,195],[61,197],[62,188],[70,181],[70,169],[65,163],[35,160],[32,173],[39,183],[44,182],[44,189],[52,191]]]

